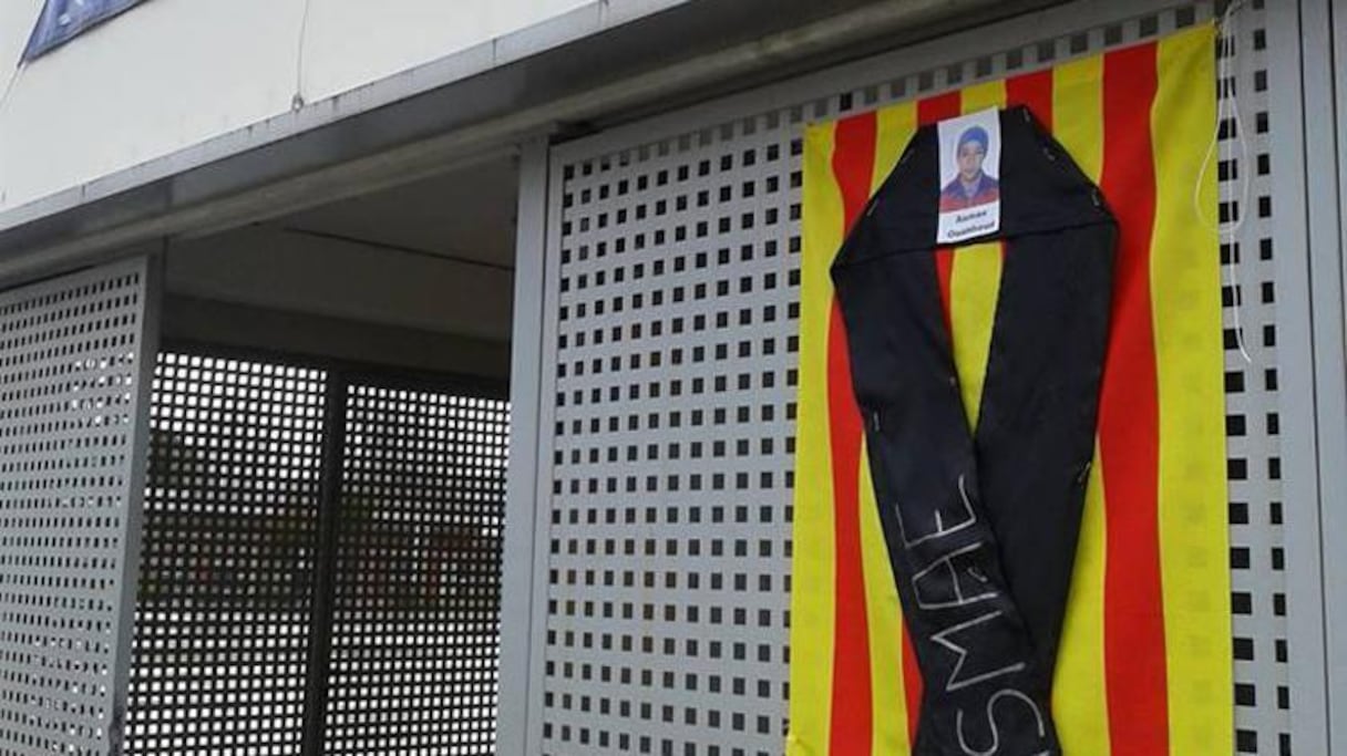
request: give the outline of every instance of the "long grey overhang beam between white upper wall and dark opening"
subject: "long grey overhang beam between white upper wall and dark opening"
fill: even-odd
[[[1052,0],[652,0],[564,16],[0,214],[19,281],[424,179]]]

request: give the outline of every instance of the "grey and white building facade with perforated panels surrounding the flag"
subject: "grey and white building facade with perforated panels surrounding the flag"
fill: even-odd
[[[51,5],[0,753],[785,752],[804,129],[1222,17],[1235,752],[1347,753],[1347,8]]]

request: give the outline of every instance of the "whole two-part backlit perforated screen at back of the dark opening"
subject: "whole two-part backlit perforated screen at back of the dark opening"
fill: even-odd
[[[494,752],[509,414],[454,383],[159,355],[128,753]]]

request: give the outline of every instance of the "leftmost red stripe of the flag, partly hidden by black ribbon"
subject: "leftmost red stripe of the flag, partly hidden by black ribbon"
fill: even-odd
[[[832,152],[832,175],[842,191],[842,210],[850,230],[870,200],[877,121],[865,113],[839,121]],[[861,561],[861,410],[851,389],[842,311],[832,301],[828,324],[828,418],[832,445],[832,491],[836,527],[836,632],[832,647],[832,726],[828,753],[869,756],[873,709],[870,683],[870,627],[865,605],[865,568]]]

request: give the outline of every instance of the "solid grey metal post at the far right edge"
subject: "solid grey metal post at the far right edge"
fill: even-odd
[[[1343,463],[1334,460],[1344,451],[1344,429],[1325,426],[1321,420],[1343,401],[1342,278],[1334,260],[1336,241],[1329,241],[1329,231],[1336,237],[1336,221],[1328,217],[1336,214],[1336,176],[1328,155],[1313,147],[1332,147],[1332,74],[1321,63],[1305,63],[1331,59],[1324,5],[1321,0],[1269,4],[1269,128],[1276,137],[1270,159],[1285,397],[1282,484],[1292,513],[1286,525],[1286,611],[1296,753],[1334,752],[1325,671],[1332,646],[1325,644],[1329,607],[1324,578],[1331,557],[1324,549],[1329,525],[1324,476],[1342,469]],[[1334,308],[1336,322],[1331,322]]]

